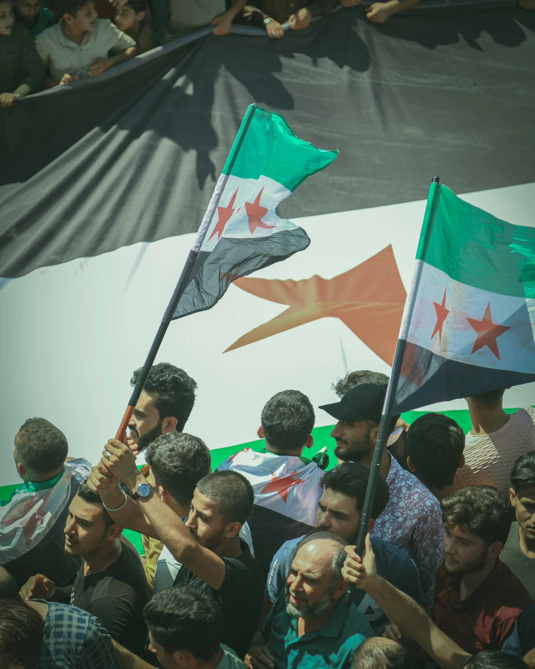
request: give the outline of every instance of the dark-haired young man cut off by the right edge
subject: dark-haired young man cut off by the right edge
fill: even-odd
[[[535,451],[518,458],[510,480],[509,496],[516,520],[500,559],[535,600]]]

